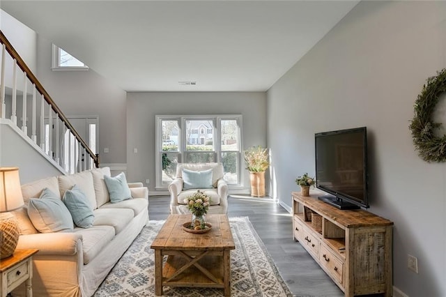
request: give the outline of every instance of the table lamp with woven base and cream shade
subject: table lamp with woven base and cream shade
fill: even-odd
[[[15,251],[19,241],[17,218],[9,211],[23,206],[22,188],[20,187],[17,167],[0,168],[0,259],[9,257]]]

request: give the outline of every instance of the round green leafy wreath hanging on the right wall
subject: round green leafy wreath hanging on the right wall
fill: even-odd
[[[442,123],[433,123],[432,114],[442,94],[446,92],[446,68],[427,79],[414,105],[409,128],[418,155],[426,162],[446,161],[446,135],[438,137],[433,131]]]

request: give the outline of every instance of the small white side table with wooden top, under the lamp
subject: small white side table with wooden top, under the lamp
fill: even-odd
[[[26,296],[33,296],[31,278],[33,277],[33,254],[38,250],[15,250],[10,257],[0,260],[1,297],[6,297],[10,291],[25,282]]]

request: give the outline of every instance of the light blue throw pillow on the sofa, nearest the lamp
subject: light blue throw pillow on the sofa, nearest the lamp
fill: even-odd
[[[40,198],[29,199],[28,216],[41,233],[69,232],[74,228],[70,211],[48,188],[43,190]]]

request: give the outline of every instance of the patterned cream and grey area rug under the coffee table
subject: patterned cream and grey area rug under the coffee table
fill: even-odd
[[[150,221],[102,282],[96,297],[155,296],[151,243],[164,221]],[[231,250],[231,296],[292,296],[248,218],[229,218],[236,250]],[[223,289],[164,287],[164,296],[224,296]]]

